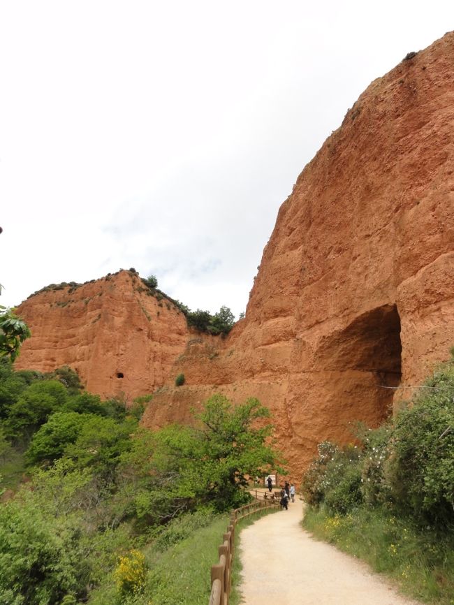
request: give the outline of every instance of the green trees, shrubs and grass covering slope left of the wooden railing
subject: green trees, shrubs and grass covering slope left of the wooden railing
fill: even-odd
[[[269,412],[214,395],[192,428],[152,432],[139,427],[150,399],[102,401],[68,367],[0,361],[0,605],[209,598],[224,511],[249,499],[247,476],[277,464]]]

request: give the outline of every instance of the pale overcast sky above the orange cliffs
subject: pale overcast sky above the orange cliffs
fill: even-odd
[[[0,0],[0,304],[134,267],[244,311],[302,168],[452,29],[452,0]]]

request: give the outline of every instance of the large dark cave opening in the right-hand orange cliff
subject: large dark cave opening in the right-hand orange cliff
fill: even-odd
[[[329,346],[330,351],[323,347],[329,357],[326,365],[349,373],[355,397],[374,409],[376,420],[390,416],[395,388],[402,377],[400,316],[396,305],[383,305],[361,314],[333,336]]]

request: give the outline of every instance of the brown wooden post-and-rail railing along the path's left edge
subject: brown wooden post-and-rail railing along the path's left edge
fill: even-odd
[[[251,492],[254,495],[254,492]],[[219,546],[219,563],[211,567],[211,595],[209,605],[228,605],[230,588],[232,587],[232,562],[235,551],[235,526],[237,522],[249,515],[279,506],[279,492],[263,497],[255,490],[255,500],[251,504],[241,506],[230,514],[227,532],[223,536],[224,542]]]

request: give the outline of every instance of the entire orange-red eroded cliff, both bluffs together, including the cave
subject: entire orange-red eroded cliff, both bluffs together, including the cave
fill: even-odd
[[[75,293],[24,303],[34,335],[17,366],[66,363],[102,395],[163,385],[150,427],[189,421],[215,392],[257,397],[296,481],[318,442],[381,423],[454,344],[453,57],[451,33],[347,112],[281,206],[246,318],[226,340],[190,335],[176,309],[158,321],[126,272],[64,308]]]

